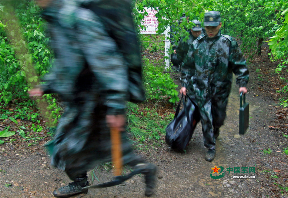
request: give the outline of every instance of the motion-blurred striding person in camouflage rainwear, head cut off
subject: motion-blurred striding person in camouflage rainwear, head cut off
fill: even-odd
[[[31,96],[57,93],[66,103],[51,164],[72,183],[56,197],[87,193],[86,171],[111,161],[110,127],[122,132],[122,161],[143,169],[145,195],[155,188],[156,166],[132,152],[125,133],[126,101],[144,101],[141,57],[129,1],[39,1],[48,21],[55,65]]]

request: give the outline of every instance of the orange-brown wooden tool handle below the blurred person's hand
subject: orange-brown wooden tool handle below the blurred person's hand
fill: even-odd
[[[121,131],[116,127],[110,129],[111,134],[111,155],[112,163],[115,167],[114,175],[120,176],[122,174],[122,150],[121,150]]]

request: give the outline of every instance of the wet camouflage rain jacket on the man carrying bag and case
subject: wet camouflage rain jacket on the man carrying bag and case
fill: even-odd
[[[200,35],[190,47],[182,65],[182,86],[188,88],[199,107],[211,100],[228,97],[233,73],[236,84],[246,87],[249,71],[236,40],[227,35]],[[209,113],[210,114],[210,113]]]

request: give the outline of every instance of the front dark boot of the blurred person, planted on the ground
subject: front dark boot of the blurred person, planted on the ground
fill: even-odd
[[[54,190],[53,195],[55,197],[65,198],[72,195],[77,195],[81,193],[87,193],[87,190],[82,190],[82,187],[89,186],[89,182],[86,177],[77,177],[73,182],[69,183],[67,186],[61,187]]]

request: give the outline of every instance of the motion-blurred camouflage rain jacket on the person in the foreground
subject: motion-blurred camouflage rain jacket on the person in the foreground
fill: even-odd
[[[144,101],[130,7],[129,1],[54,1],[45,9],[55,52],[55,66],[42,85],[45,93],[75,99],[75,85],[84,72],[93,73],[97,83],[89,91],[101,93],[111,114],[123,112],[126,101]]]

